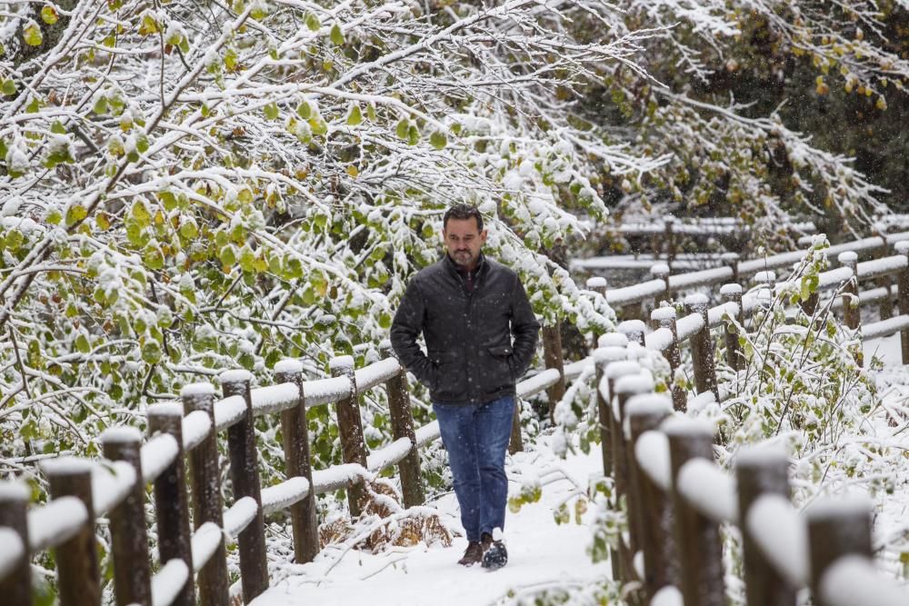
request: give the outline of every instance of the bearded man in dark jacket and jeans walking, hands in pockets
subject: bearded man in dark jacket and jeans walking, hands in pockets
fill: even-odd
[[[447,253],[407,285],[391,341],[430,391],[467,534],[458,563],[494,569],[508,558],[501,532],[514,383],[534,357],[540,324],[517,274],[482,253],[480,212],[454,204],[442,225]],[[416,343],[420,333],[426,353]]]

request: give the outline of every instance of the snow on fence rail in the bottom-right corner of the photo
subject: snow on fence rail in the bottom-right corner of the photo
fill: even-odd
[[[834,561],[821,576],[818,591],[829,606],[905,606],[909,591],[874,568],[861,555]]]

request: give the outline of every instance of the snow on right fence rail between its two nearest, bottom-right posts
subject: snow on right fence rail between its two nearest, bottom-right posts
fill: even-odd
[[[792,503],[767,494],[745,514],[745,529],[774,569],[793,587],[808,584],[808,529]]]

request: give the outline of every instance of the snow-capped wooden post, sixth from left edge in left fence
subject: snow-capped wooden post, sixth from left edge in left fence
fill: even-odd
[[[246,412],[239,422],[227,428],[227,451],[230,455],[230,475],[234,483],[234,500],[244,497],[255,500],[252,522],[240,531],[240,581],[243,601],[249,603],[268,589],[268,565],[265,561],[265,516],[262,513],[262,488],[259,484],[259,457],[255,446],[253,398],[249,383],[253,375],[245,370],[225,371],[218,375],[225,398],[239,397]]]

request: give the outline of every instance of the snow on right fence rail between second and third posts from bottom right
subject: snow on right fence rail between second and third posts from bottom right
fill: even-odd
[[[694,458],[678,473],[678,491],[685,500],[716,523],[738,523],[735,482],[714,462]]]

